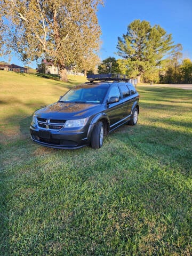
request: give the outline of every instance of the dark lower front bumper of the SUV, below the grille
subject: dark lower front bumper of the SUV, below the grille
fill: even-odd
[[[87,138],[86,129],[75,132],[50,132],[50,138],[42,137],[42,130],[35,129],[30,126],[31,139],[41,146],[58,148],[58,149],[78,149],[86,145],[90,145],[90,139]]]

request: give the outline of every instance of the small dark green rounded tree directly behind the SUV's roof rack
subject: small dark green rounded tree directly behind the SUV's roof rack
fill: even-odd
[[[109,57],[98,66],[98,73],[120,73],[119,65],[114,57]]]

